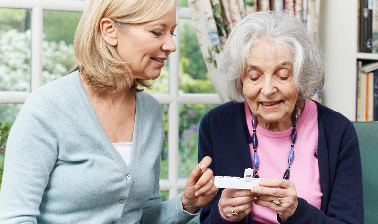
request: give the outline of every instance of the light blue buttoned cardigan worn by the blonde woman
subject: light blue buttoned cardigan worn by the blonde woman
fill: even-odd
[[[0,223],[185,223],[181,194],[159,192],[158,101],[141,92],[129,165],[112,146],[78,72],[32,92],[8,139]]]

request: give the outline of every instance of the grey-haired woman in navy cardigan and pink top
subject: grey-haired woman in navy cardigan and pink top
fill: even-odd
[[[233,102],[202,119],[199,159],[214,175],[254,168],[252,190],[220,189],[202,223],[363,223],[352,123],[310,100],[324,83],[322,53],[288,13],[257,12],[231,32],[221,71]]]

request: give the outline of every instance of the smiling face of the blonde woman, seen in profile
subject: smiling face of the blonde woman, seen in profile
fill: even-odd
[[[156,79],[171,52],[176,51],[172,40],[176,28],[176,10],[147,23],[132,24],[118,33],[116,50],[128,62],[134,78]]]

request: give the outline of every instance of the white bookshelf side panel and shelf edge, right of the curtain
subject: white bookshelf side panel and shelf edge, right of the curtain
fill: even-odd
[[[356,119],[356,62],[378,61],[378,54],[357,52],[358,0],[321,0],[319,38],[325,53],[322,103]]]

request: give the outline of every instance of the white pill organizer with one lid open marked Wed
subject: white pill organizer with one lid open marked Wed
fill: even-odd
[[[253,186],[259,185],[263,178],[254,178],[253,169],[248,168],[244,171],[244,178],[215,176],[214,185],[217,188],[234,188],[234,189],[252,189]]]

